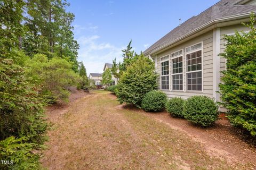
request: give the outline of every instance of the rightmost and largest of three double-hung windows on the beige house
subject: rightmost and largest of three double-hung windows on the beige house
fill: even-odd
[[[202,43],[186,48],[187,90],[202,91]]]

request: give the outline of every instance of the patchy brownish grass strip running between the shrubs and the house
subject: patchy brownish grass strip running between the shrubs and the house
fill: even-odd
[[[108,91],[71,105],[49,133],[42,163],[49,169],[248,169],[206,154],[199,142],[135,109]]]

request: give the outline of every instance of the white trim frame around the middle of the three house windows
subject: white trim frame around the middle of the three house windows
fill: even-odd
[[[186,49],[186,48],[185,48]],[[169,70],[170,70],[170,77],[169,77],[169,89],[170,89],[170,91],[184,91],[184,79],[183,79],[183,76],[184,76],[184,71],[183,71],[183,62],[184,62],[184,49],[182,48],[182,49],[180,49],[180,50],[182,50],[182,54],[180,54],[180,55],[177,55],[177,56],[174,56],[174,57],[170,57],[170,68],[169,68]],[[179,52],[180,50],[177,50],[176,52]],[[173,53],[176,53],[176,52],[173,52]],[[170,56],[172,56],[172,54],[173,53],[171,53],[171,55]],[[182,73],[175,73],[175,74],[172,74],[172,60],[173,59],[175,59],[175,58],[178,58],[178,57],[182,57]],[[182,74],[182,90],[173,90],[172,89],[172,75],[178,75],[178,74]]]

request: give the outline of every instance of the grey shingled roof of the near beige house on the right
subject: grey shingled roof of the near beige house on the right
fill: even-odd
[[[198,29],[204,24],[207,24],[210,21],[256,11],[256,6],[254,5],[228,5],[231,4],[231,2],[234,3],[234,0],[222,0],[208,8],[204,12],[198,14],[197,16],[193,16],[192,18],[188,19],[187,21],[183,22],[181,25],[167,33],[167,35],[159,39],[155,44],[151,45],[148,49],[145,50],[145,52],[143,52],[143,54],[152,54],[152,52],[154,52],[156,49],[171,44],[180,37],[187,35],[190,32],[193,32],[194,30]],[[226,3],[228,4],[223,5]]]

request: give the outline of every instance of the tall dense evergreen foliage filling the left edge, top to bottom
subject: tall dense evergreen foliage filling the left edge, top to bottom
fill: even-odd
[[[39,168],[48,127],[44,101],[26,75],[27,57],[20,50],[24,7],[23,1],[0,3],[0,160],[14,160],[0,169]]]

